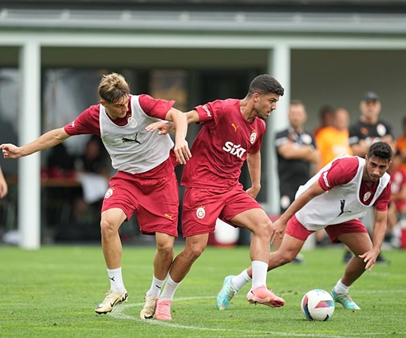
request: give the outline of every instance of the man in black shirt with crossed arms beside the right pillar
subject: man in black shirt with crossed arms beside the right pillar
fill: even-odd
[[[299,100],[289,106],[289,127],[277,133],[275,146],[278,157],[280,209],[284,213],[295,198],[297,188],[312,176],[311,164],[319,163],[320,155],[313,137],[303,129],[306,108]],[[275,250],[280,241],[275,242]],[[300,256],[295,262],[300,262]]]

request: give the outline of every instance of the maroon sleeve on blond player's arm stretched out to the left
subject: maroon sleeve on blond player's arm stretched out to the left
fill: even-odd
[[[100,136],[99,106],[91,106],[83,111],[74,121],[64,126],[70,136],[95,134]]]

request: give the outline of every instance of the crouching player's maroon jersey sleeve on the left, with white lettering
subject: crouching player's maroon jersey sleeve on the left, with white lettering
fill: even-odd
[[[331,190],[336,185],[343,185],[350,182],[358,171],[358,159],[346,157],[335,160],[330,168],[321,173],[319,185],[324,190]]]

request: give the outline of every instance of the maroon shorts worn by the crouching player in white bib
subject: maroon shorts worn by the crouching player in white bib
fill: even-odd
[[[328,225],[324,230],[326,230],[332,243],[339,243],[338,237],[343,233],[368,232],[358,218],[339,224]],[[285,230],[285,233],[300,241],[306,241],[313,232],[314,230],[308,230],[299,223],[295,215],[288,221]]]

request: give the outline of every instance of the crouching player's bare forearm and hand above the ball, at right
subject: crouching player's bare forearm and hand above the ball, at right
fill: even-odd
[[[374,264],[377,260],[379,253],[381,252],[382,242],[385,238],[386,232],[386,222],[388,218],[388,211],[379,211],[375,212],[375,222],[372,233],[372,249],[365,252],[363,255],[359,255],[360,258],[363,258],[365,264],[365,270],[372,270]]]

